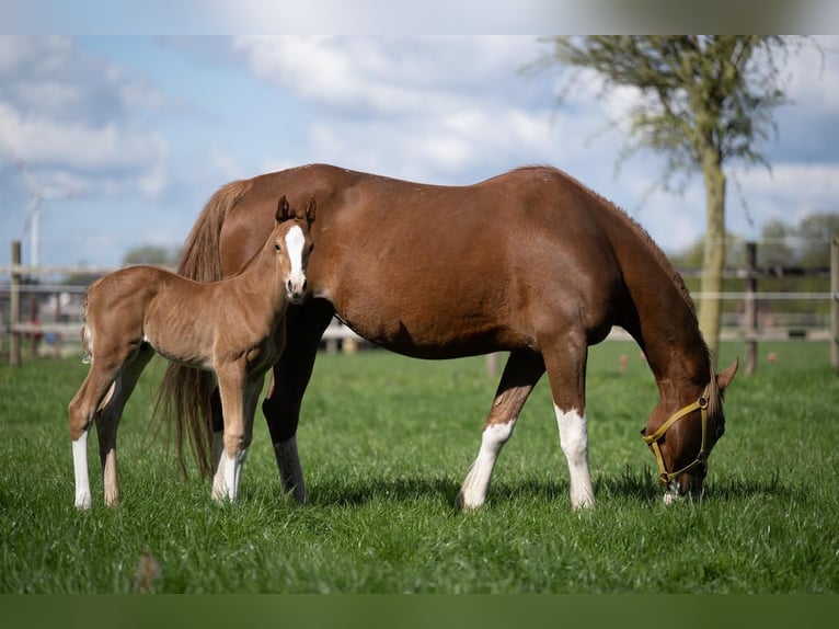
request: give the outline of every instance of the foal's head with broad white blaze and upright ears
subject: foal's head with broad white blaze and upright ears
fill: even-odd
[[[306,296],[306,267],[314,248],[311,225],[314,221],[314,197],[304,211],[291,209],[285,195],[277,204],[277,222],[268,242],[279,260],[279,274],[291,304],[300,304]]]

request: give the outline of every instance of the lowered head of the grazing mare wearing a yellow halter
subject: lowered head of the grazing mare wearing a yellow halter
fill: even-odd
[[[721,374],[711,374],[708,386],[687,405],[671,413],[659,403],[641,436],[655,455],[664,501],[699,495],[708,473],[708,456],[725,432],[723,393],[737,371],[738,361]]]

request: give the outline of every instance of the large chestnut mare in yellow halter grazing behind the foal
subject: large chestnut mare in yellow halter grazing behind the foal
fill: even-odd
[[[708,455],[724,430],[722,393],[737,363],[714,374],[681,277],[618,207],[547,167],[439,186],[306,165],[221,187],[193,227],[179,272],[204,281],[237,273],[271,230],[278,191],[292,201],[314,194],[319,204],[311,299],[289,309],[288,345],[263,402],[284,491],[307,499],[296,432],[333,314],[407,356],[509,352],[458,495],[462,508],[484,503],[498,454],[545,371],[571,504],[594,504],[586,358],[613,325],[635,339],[658,385],[644,435],[666,500],[701,491]],[[195,374],[170,365],[161,394],[200,444],[212,382]]]

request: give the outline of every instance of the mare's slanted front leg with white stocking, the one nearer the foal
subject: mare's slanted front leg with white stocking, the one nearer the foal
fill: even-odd
[[[544,363],[539,354],[530,351],[510,353],[484,423],[481,449],[458,493],[457,503],[461,508],[478,508],[486,500],[495,460],[513,435],[521,407],[543,373]]]

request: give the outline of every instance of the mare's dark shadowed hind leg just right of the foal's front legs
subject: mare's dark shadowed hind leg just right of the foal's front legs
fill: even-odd
[[[262,403],[262,412],[274,443],[283,492],[292,495],[299,503],[307,500],[303,471],[297,453],[300,405],[314,368],[318,343],[333,313],[332,306],[322,299],[315,299],[302,308],[289,309],[287,344],[274,366],[272,387]]]

